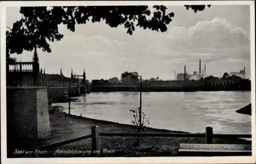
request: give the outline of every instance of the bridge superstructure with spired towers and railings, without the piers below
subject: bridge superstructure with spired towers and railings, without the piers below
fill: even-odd
[[[23,69],[23,67],[26,67]],[[27,68],[30,67],[30,68]],[[66,77],[62,74],[46,74],[45,69],[39,69],[39,60],[36,52],[32,62],[8,62],[6,64],[6,84],[7,87],[25,87],[25,86],[49,86],[49,87],[65,87],[65,86],[88,86],[89,81],[86,80],[86,73],[83,75],[73,75]]]

